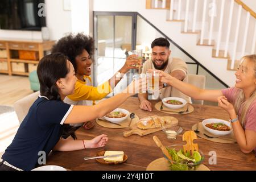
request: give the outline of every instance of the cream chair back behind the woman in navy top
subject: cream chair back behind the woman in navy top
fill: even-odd
[[[31,105],[35,102],[35,100],[39,96],[39,91],[32,93],[14,103],[14,110],[18,116],[19,123],[22,123],[23,119],[26,117],[28,110]]]

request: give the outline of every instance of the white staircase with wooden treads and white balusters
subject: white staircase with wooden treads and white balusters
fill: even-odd
[[[159,19],[156,27],[166,22],[170,31],[162,31],[229,86],[241,57],[255,54],[256,14],[240,0],[146,0],[146,9]]]

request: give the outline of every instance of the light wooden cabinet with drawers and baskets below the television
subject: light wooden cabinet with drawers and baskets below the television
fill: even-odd
[[[0,40],[0,73],[28,76],[39,60],[50,51],[55,41]]]

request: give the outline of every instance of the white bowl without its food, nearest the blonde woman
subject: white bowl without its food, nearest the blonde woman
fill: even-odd
[[[218,131],[218,130],[210,129],[209,127],[205,126],[205,125],[207,125],[209,123],[223,123],[223,124],[225,124],[225,125],[230,127],[230,131]],[[228,135],[228,134],[232,133],[232,131],[233,131],[232,127],[230,125],[230,122],[222,120],[222,119],[214,119],[214,118],[205,119],[202,122],[202,125],[203,125],[204,129],[207,130],[209,133],[211,133],[213,135],[218,135],[218,136]]]

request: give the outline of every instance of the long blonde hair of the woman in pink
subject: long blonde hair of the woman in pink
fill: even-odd
[[[255,78],[256,78],[256,55],[248,55],[244,56],[241,59],[242,61],[247,61],[248,63],[253,63],[254,64],[254,73],[255,73]],[[243,93],[243,90],[238,91],[236,101],[234,102],[234,109],[236,110],[236,113],[239,113],[241,105],[243,105],[242,113],[241,113],[241,118],[240,122],[242,126],[245,124],[245,119],[246,119],[246,114],[248,112],[248,109],[250,105],[253,103],[253,101],[256,100],[256,90],[251,94],[250,98],[248,100],[245,100],[245,93]]]

